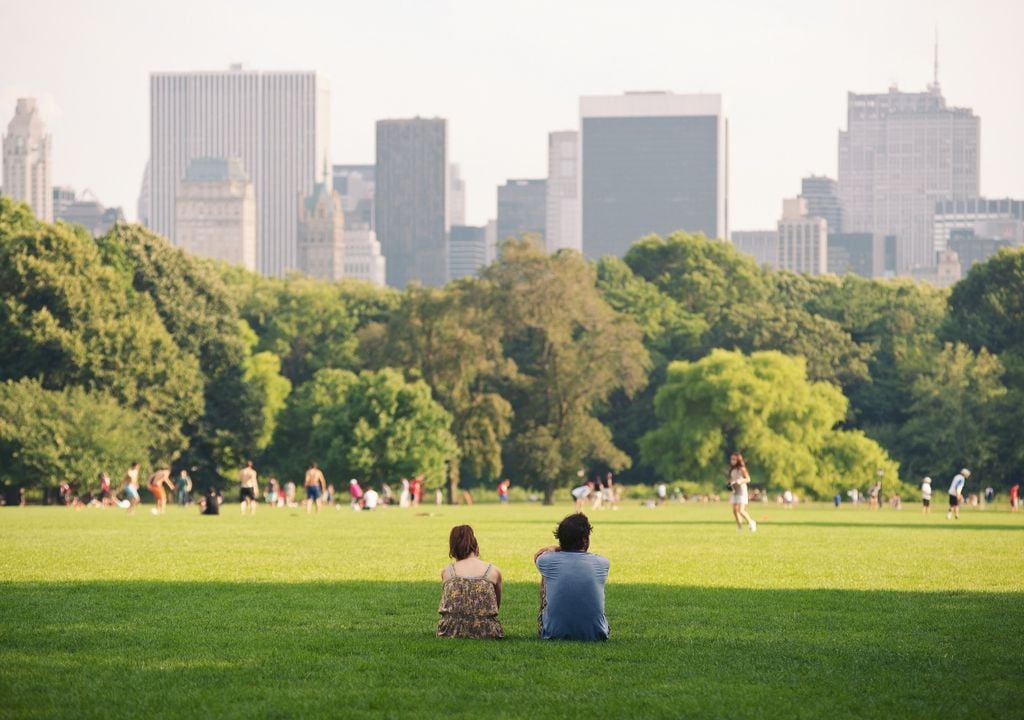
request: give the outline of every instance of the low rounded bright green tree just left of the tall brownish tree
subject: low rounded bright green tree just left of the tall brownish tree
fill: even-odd
[[[269,452],[283,475],[299,476],[312,461],[329,479],[356,477],[373,485],[426,476],[439,488],[457,452],[452,417],[423,381],[397,371],[319,370],[289,397]]]

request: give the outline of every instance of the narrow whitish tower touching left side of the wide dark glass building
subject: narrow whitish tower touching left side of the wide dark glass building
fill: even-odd
[[[548,133],[548,209],[545,245],[553,253],[562,248],[583,251],[580,239],[580,133]]]

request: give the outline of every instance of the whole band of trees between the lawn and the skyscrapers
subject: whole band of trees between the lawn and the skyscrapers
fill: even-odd
[[[509,240],[477,278],[402,292],[266,279],[137,225],[93,239],[0,199],[0,482],[97,482],[132,461],[453,497],[578,472],[814,497],[1024,454],[1024,251],[951,291],[757,266],[683,232],[622,259]],[[197,474],[198,473],[198,474]]]

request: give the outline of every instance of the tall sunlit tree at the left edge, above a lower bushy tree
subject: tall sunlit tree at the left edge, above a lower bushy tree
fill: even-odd
[[[203,408],[199,364],[88,234],[0,198],[0,380],[106,393],[156,430],[136,454],[171,460],[185,448]]]

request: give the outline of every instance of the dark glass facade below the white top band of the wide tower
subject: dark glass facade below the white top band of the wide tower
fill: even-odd
[[[622,257],[640,238],[718,227],[717,117],[583,118],[583,251]]]

